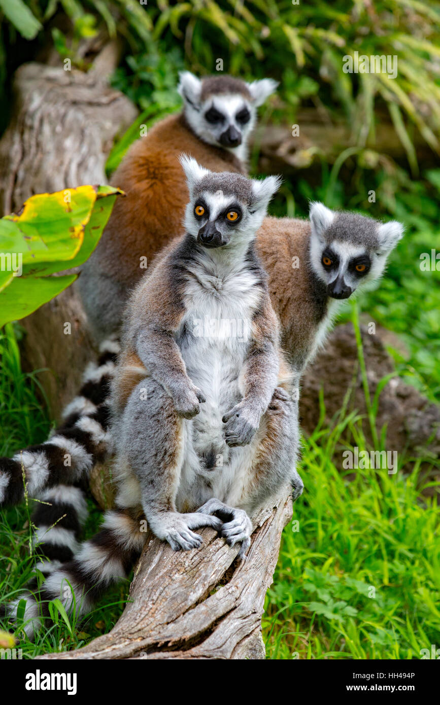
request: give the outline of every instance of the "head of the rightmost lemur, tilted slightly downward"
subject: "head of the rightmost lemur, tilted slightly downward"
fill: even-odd
[[[334,212],[322,203],[310,207],[310,262],[327,294],[348,299],[383,274],[386,259],[403,235],[401,223],[355,213]]]

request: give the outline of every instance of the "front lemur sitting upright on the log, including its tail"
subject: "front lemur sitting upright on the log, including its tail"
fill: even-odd
[[[75,604],[80,615],[128,574],[145,543],[142,517],[174,551],[199,547],[195,529],[209,526],[229,545],[240,543],[243,558],[250,515],[289,484],[296,496],[302,491],[293,374],[255,250],[279,180],[213,173],[190,158],[182,164],[190,191],[185,235],[130,298],[114,375],[116,508],[37,590],[42,615],[27,595],[30,636],[48,601]],[[233,321],[243,322],[240,336],[224,327]]]

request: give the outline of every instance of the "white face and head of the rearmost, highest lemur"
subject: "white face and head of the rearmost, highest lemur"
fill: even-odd
[[[222,75],[200,80],[189,71],[181,73],[180,79],[185,117],[197,137],[242,158],[240,147],[245,147],[255,125],[257,106],[274,92],[276,81],[245,83]]]

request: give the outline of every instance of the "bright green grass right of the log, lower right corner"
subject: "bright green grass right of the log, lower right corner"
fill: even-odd
[[[266,599],[267,656],[420,658],[440,631],[436,502],[420,496],[418,462],[407,476],[368,469],[348,479],[353,471],[329,460],[343,427],[305,441],[305,495]]]

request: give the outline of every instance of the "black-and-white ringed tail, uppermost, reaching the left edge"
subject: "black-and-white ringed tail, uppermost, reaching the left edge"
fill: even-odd
[[[78,483],[104,459],[110,448],[109,383],[118,351],[118,341],[102,343],[98,362],[87,368],[79,395],[47,441],[0,458],[0,507],[20,503],[26,493],[35,497],[49,487]]]

